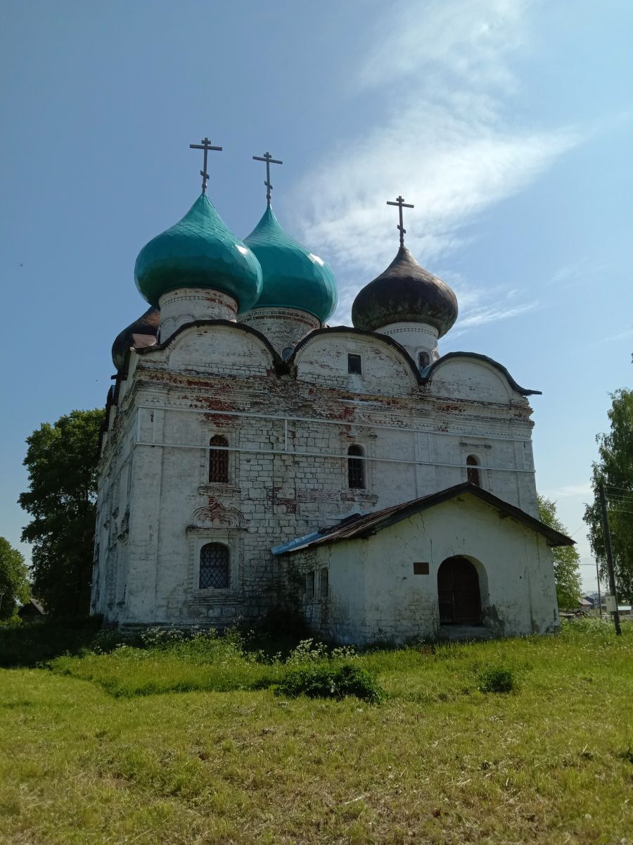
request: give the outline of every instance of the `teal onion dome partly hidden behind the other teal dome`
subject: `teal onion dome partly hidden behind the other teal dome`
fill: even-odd
[[[338,297],[332,270],[284,232],[270,204],[244,243],[262,265],[262,293],[254,308],[297,308],[322,323],[333,313]]]

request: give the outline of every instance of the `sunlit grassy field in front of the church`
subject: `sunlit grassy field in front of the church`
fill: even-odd
[[[633,843],[630,626],[360,657],[112,646],[0,670],[0,842]],[[274,694],[344,663],[381,704]],[[517,689],[481,692],[490,668]]]

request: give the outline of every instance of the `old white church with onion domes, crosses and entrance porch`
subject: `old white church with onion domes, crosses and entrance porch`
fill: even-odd
[[[331,326],[327,263],[267,204],[243,240],[207,195],[138,254],[149,308],[114,341],[91,612],[122,626],[257,624],[321,639],[544,633],[559,625],[537,517],[527,390],[441,355],[451,288],[400,243]],[[394,247],[396,244],[394,243]]]

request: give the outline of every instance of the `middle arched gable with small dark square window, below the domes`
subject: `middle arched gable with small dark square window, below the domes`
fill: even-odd
[[[402,395],[420,384],[418,368],[397,341],[347,326],[313,331],[288,363],[300,381],[355,393]]]

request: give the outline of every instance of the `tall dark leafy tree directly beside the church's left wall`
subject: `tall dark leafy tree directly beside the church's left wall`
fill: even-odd
[[[96,466],[104,411],[73,411],[26,439],[30,489],[19,504],[33,519],[33,591],[52,616],[87,615],[95,537]]]

